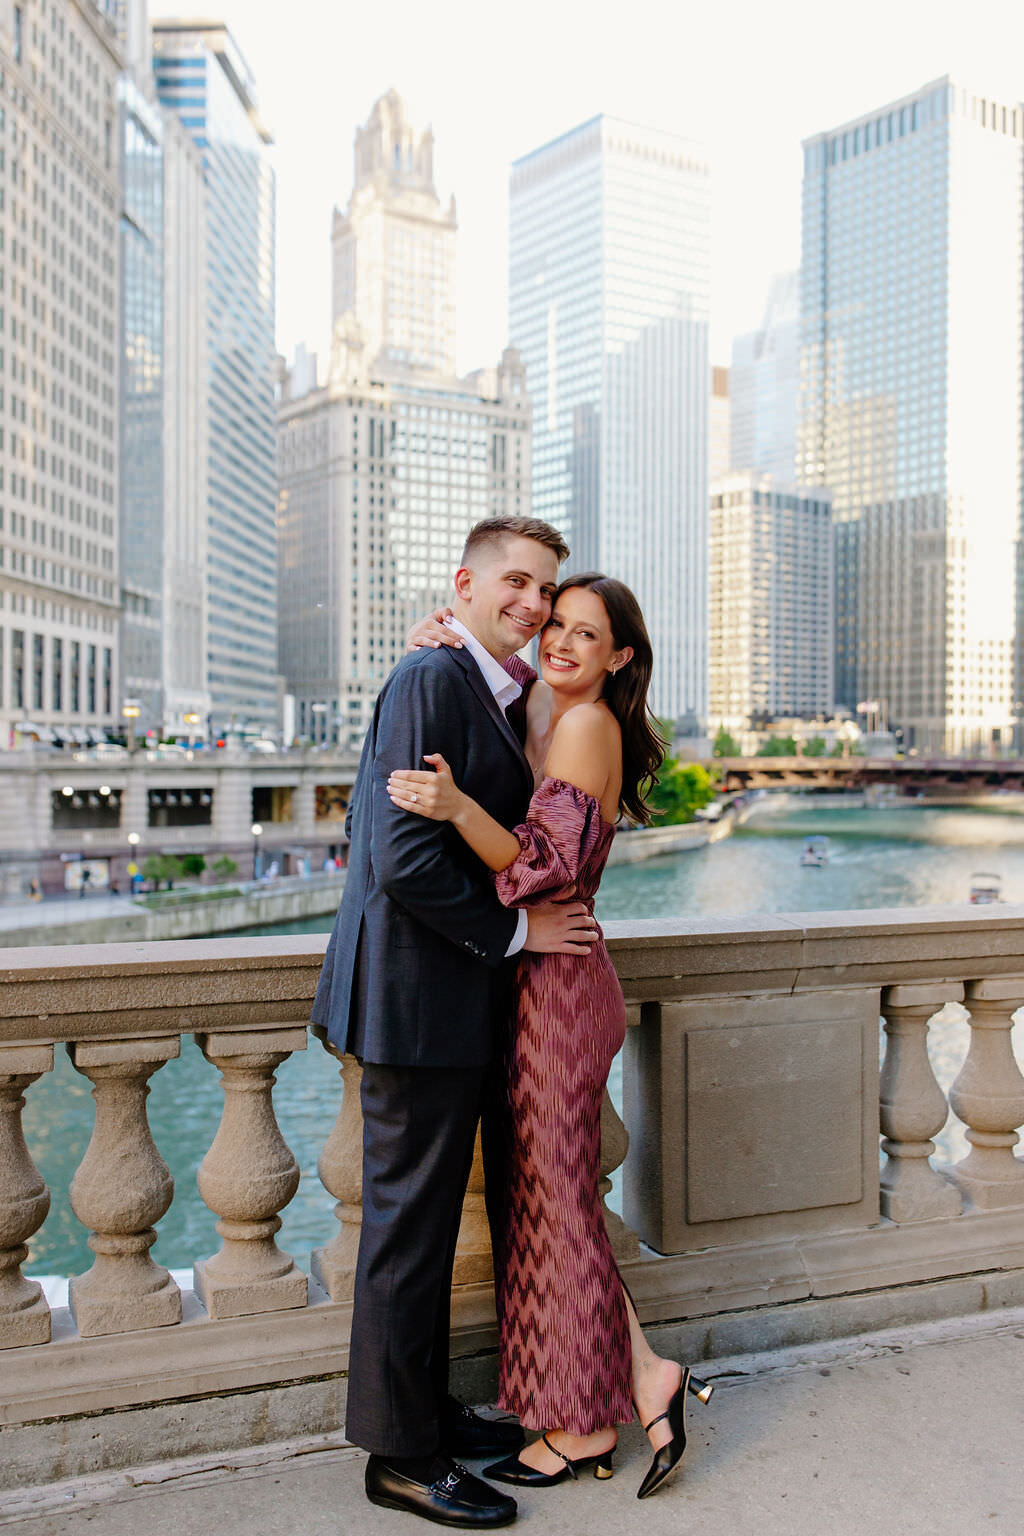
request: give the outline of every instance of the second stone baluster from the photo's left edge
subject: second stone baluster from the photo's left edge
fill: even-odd
[[[71,1209],[91,1229],[95,1263],[75,1275],[69,1304],[78,1333],[126,1333],[181,1321],[181,1292],[149,1250],[173,1197],[170,1170],[149,1132],[149,1078],[181,1049],[177,1035],[84,1040],[68,1046],[92,1083],[92,1138],[71,1181]]]

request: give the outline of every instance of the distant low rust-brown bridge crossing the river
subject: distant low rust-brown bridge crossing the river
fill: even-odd
[[[1024,791],[1024,757],[715,757],[723,790],[864,790],[969,796]]]

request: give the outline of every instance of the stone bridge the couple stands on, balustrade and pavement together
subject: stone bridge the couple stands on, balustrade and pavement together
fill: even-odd
[[[1024,908],[606,931],[629,1023],[623,1120],[606,1101],[602,1121],[602,1193],[619,1167],[623,1192],[608,1232],[652,1341],[718,1382],[692,1415],[682,1476],[645,1507],[645,1530],[1024,1528],[1013,1413],[1024,1078],[1012,1041]],[[18,1536],[86,1536],[88,1524],[104,1536],[140,1524],[152,1536],[390,1536],[410,1524],[364,1502],[364,1458],[342,1427],[362,1217],[350,1057],[322,1061],[336,1120],[319,1154],[322,1243],[309,1272],[275,1241],[299,1183],[275,1074],[292,1052],[324,1049],[307,1025],[324,945],[5,954],[0,1525]],[[960,1074],[940,1083],[929,1035],[950,1005],[969,1040]],[[173,1178],[146,1089],[175,1071],[183,1037],[221,1074],[223,1115],[204,1127],[198,1170],[220,1221],[216,1238],[189,1249],[192,1267],[169,1273],[149,1253]],[[46,1189],[21,1134],[57,1051],[95,1098],[69,1190]],[[950,1111],[967,1152],[940,1166],[933,1138]],[[51,1201],[92,1233],[95,1263],[69,1295],[21,1273]],[[453,1385],[485,1402],[494,1312],[479,1160],[453,1322]],[[611,1484],[524,1490],[522,1513],[571,1536],[633,1530],[648,1458],[631,1425]]]

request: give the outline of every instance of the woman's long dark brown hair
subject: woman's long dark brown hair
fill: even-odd
[[[662,766],[668,743],[659,733],[648,708],[654,653],[640,604],[625,582],[616,581],[614,576],[602,576],[599,571],[585,571],[565,578],[554,594],[553,611],[562,593],[568,591],[570,587],[583,587],[600,598],[617,651],[626,645],[633,647],[633,659],[605,679],[603,697],[622,731],[619,809],[631,822],[640,822],[642,826],[646,826],[651,813],[645,797]]]

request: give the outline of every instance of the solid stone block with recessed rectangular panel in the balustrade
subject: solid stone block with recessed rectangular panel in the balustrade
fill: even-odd
[[[878,1221],[878,992],[646,1003],[623,1215],[659,1253]]]

